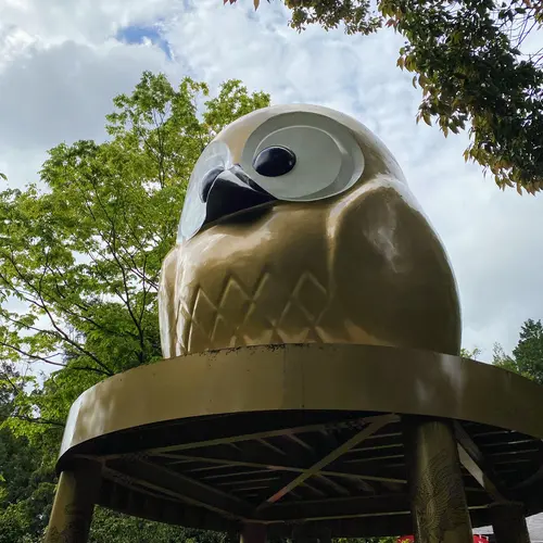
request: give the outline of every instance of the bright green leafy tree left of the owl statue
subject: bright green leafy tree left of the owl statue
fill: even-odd
[[[73,401],[161,358],[159,274],[194,162],[225,125],[268,104],[239,80],[210,98],[203,83],[174,88],[146,72],[114,99],[108,141],[61,143],[40,186],[0,192],[0,543],[40,540]],[[38,378],[37,364],[54,371]],[[220,540],[100,508],[91,528],[105,543],[188,538]]]

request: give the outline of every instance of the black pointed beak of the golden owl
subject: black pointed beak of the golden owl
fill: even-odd
[[[240,166],[215,171],[205,181],[202,190],[204,225],[276,200],[258,188]]]

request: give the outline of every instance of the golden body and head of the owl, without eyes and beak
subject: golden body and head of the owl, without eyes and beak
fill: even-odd
[[[282,343],[457,354],[460,314],[444,249],[396,161],[365,126],[295,104],[258,110],[216,140],[238,162],[264,121],[292,111],[346,126],[364,154],[362,177],[338,197],[277,201],[177,244],[164,262],[159,293],[164,357]]]

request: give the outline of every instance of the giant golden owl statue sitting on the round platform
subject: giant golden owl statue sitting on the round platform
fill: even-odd
[[[320,106],[226,127],[192,172],[159,292],[166,358],[282,343],[457,354],[454,275],[384,144]]]

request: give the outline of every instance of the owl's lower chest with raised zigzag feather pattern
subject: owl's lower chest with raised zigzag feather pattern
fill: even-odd
[[[331,299],[323,268],[291,262],[255,273],[254,265],[231,266],[186,285],[178,338],[186,352],[321,341],[320,321]]]

